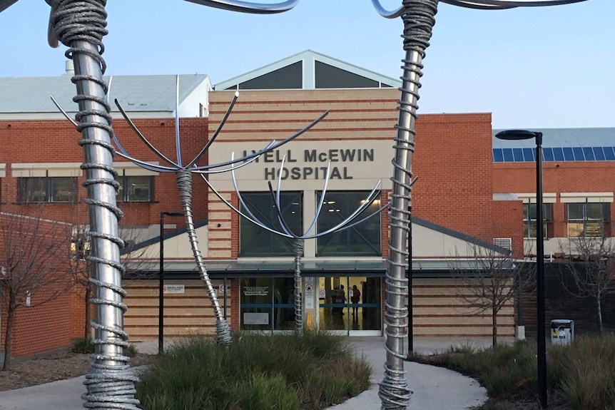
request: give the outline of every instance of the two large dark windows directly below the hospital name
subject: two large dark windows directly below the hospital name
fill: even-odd
[[[337,226],[352,215],[352,212],[360,207],[367,198],[368,192],[327,192],[322,200],[322,210],[318,217],[315,232],[325,232]],[[315,202],[320,200],[320,193],[316,193]],[[245,193],[242,194],[244,204],[241,209],[246,212],[246,207],[253,215],[268,227],[278,232],[284,232],[275,205],[270,193]],[[303,221],[303,192],[280,193],[281,212],[285,223],[295,235],[302,235],[304,230]],[[376,200],[367,207],[355,220],[375,212],[380,201]],[[316,204],[318,205],[318,204]],[[307,223],[311,224],[311,220]],[[324,237],[317,238],[317,256],[380,256],[380,214],[370,217],[364,222],[352,226],[341,232],[335,232]],[[268,232],[252,222],[240,218],[239,222],[239,256],[290,256],[294,255],[293,240]]]

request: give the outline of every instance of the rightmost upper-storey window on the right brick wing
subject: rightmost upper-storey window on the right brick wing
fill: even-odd
[[[609,222],[609,203],[567,203],[566,221],[569,237],[596,237],[605,235]]]

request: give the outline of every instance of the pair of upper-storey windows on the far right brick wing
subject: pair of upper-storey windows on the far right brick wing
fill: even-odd
[[[566,203],[565,220],[568,237],[599,237],[608,235],[605,226],[611,221],[610,203]],[[523,205],[524,237],[537,236],[536,204]],[[549,225],[553,222],[553,204],[543,204],[542,220],[544,236],[548,237]]]

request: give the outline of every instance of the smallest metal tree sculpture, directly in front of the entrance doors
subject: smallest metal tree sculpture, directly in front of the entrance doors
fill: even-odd
[[[234,158],[234,153],[233,153],[233,157],[231,158]],[[281,237],[286,237],[290,240],[293,240],[293,252],[295,253],[295,265],[294,265],[295,266],[295,275],[294,275],[294,279],[295,279],[295,283],[294,283],[294,286],[295,286],[295,291],[294,291],[295,336],[301,337],[303,336],[303,307],[301,303],[301,257],[303,256],[303,243],[305,242],[305,240],[308,240],[308,239],[316,239],[318,237],[329,235],[334,232],[341,232],[342,230],[347,230],[369,219],[370,217],[377,215],[389,205],[388,204],[384,205],[380,207],[380,209],[378,209],[377,211],[372,212],[370,215],[367,215],[366,217],[362,217],[360,220],[356,220],[357,217],[359,217],[359,215],[363,211],[367,210],[367,208],[370,207],[370,205],[372,205],[374,200],[377,198],[377,195],[379,194],[377,189],[380,186],[380,181],[379,181],[375,185],[375,187],[372,189],[370,194],[367,195],[367,198],[365,199],[365,201],[359,207],[357,207],[357,209],[354,212],[352,212],[348,217],[342,220],[342,222],[338,223],[334,227],[328,230],[325,230],[323,232],[313,232],[312,233],[312,231],[316,227],[316,222],[318,220],[318,216],[320,215],[320,211],[322,210],[322,205],[325,203],[325,195],[327,193],[327,185],[329,183],[329,178],[330,178],[331,163],[329,163],[327,165],[327,173],[325,176],[325,182],[322,186],[322,191],[320,193],[320,201],[318,203],[316,213],[314,217],[312,218],[312,222],[310,223],[310,226],[303,233],[293,232],[293,229],[290,227],[290,225],[288,225],[288,222],[286,222],[282,214],[282,203],[281,203],[281,197],[280,197],[280,193],[282,192],[282,175],[283,175],[282,170],[284,169],[285,161],[286,161],[286,155],[284,155],[282,158],[282,162],[280,164],[280,171],[278,172],[278,188],[274,191],[273,186],[271,185],[271,183],[269,183],[269,192],[271,193],[271,196],[273,198],[273,204],[274,204],[273,206],[275,207],[275,213],[278,215],[278,222],[280,222],[280,227],[282,227],[281,231],[274,229],[274,227],[268,225],[267,222],[263,222],[262,220],[259,220],[258,217],[255,216],[255,212],[250,210],[250,207],[248,207],[248,204],[245,203],[245,201],[243,200],[243,196],[240,193],[239,186],[237,183],[237,178],[235,178],[234,169],[230,171],[230,175],[233,179],[233,187],[235,188],[235,193],[237,193],[237,197],[239,198],[239,203],[241,207],[243,207],[245,212],[241,212],[241,210],[239,210],[238,208],[233,206],[231,203],[229,203],[228,200],[226,200],[222,195],[220,195],[220,193],[218,193],[218,190],[216,190],[213,187],[213,185],[211,185],[209,180],[205,178],[204,175],[201,175],[201,176],[203,177],[203,180],[205,180],[205,183],[207,183],[209,188],[213,191],[213,193],[215,193],[215,195],[223,203],[225,203],[228,207],[230,207],[232,210],[237,212],[238,215],[245,218],[245,220],[252,222],[254,225],[257,225],[258,227],[261,227],[264,230],[268,230],[269,232],[275,235],[280,235]]]

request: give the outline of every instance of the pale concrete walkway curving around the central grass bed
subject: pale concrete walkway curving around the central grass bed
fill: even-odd
[[[385,341],[382,337],[351,337],[350,342],[357,354],[365,357],[374,369],[372,386],[357,397],[337,406],[332,410],[377,410],[380,409],[378,382],[384,374]],[[430,354],[442,352],[451,344],[472,343],[489,345],[490,340],[473,339],[472,342],[444,339],[415,339],[415,352]],[[155,341],[138,343],[138,349],[144,353],[156,353]],[[406,363],[408,384],[415,393],[410,400],[412,410],[463,410],[482,404],[487,399],[486,392],[477,381],[459,373],[427,366],[425,364]],[[82,410],[81,394],[85,392],[83,377],[54,381],[40,386],[26,387],[0,392],[0,410]]]

